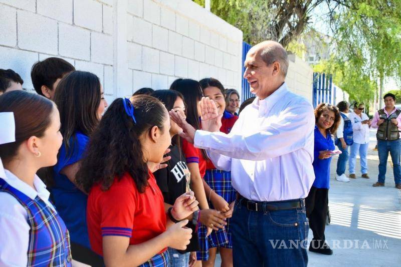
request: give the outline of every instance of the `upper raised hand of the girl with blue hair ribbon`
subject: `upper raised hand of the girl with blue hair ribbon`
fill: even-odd
[[[171,215],[176,220],[182,220],[192,214],[193,211],[198,210],[198,204],[199,202],[196,200],[193,191],[183,193],[175,199],[171,209]]]

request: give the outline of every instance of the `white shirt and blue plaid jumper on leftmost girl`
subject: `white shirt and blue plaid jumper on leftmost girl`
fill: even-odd
[[[71,266],[69,233],[46,185],[35,175],[35,190],[9,170],[5,174],[0,178],[0,266]]]

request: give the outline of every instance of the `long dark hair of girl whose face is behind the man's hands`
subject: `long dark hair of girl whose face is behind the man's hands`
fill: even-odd
[[[196,130],[200,130],[199,116],[197,112],[197,103],[202,99],[203,92],[200,84],[192,79],[177,79],[170,85],[170,90],[180,92],[184,97],[186,106],[186,122],[192,125]],[[205,159],[209,159],[204,149],[201,149]]]

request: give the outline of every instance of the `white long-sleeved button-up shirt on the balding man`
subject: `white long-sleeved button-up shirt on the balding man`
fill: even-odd
[[[230,134],[198,130],[194,144],[216,167],[231,170],[234,188],[247,199],[305,198],[315,179],[314,127],[311,104],[284,83],[247,106]]]

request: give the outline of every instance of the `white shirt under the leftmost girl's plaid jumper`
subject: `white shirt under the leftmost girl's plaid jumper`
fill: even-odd
[[[49,201],[50,192],[41,179],[35,175],[34,188],[20,180],[9,170],[3,178],[8,184],[35,199],[36,196],[55,210]],[[27,266],[30,226],[28,213],[20,202],[7,192],[0,192],[0,266]]]

